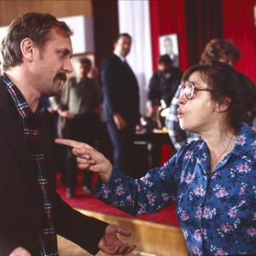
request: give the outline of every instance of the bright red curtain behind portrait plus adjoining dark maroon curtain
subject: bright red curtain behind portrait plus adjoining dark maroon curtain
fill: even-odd
[[[159,36],[177,33],[180,67],[198,63],[212,38],[222,38],[222,0],[150,0],[154,69],[159,56]]]

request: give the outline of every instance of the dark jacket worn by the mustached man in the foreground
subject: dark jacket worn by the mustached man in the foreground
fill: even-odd
[[[49,113],[40,120],[40,128],[55,230],[90,253],[96,253],[106,224],[74,211],[55,193],[54,124]],[[42,192],[26,148],[20,118],[1,79],[0,153],[0,255],[9,255],[16,247],[25,247],[33,256],[40,255],[37,234],[41,231],[44,214]]]

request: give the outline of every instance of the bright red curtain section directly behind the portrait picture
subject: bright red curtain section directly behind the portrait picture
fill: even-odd
[[[180,68],[188,68],[184,0],[151,0],[150,26],[154,70],[159,57],[159,37],[177,33]]]

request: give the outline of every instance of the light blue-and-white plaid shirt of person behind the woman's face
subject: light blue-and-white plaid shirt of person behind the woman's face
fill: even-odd
[[[198,140],[199,135],[189,131],[183,131],[180,128],[177,119],[177,108],[178,108],[178,97],[180,95],[180,87],[177,88],[175,95],[172,98],[170,112],[166,116],[166,127],[171,137],[173,146],[178,150],[185,144],[191,143],[192,141]]]

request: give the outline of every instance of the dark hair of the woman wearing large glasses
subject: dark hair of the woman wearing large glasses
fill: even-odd
[[[223,103],[230,97],[227,109],[227,122],[238,132],[241,122],[247,121],[247,112],[256,102],[256,85],[242,73],[223,62],[212,62],[212,65],[199,64],[190,67],[183,74],[183,82],[189,80],[192,73],[199,72],[201,79],[212,89],[212,100]]]

